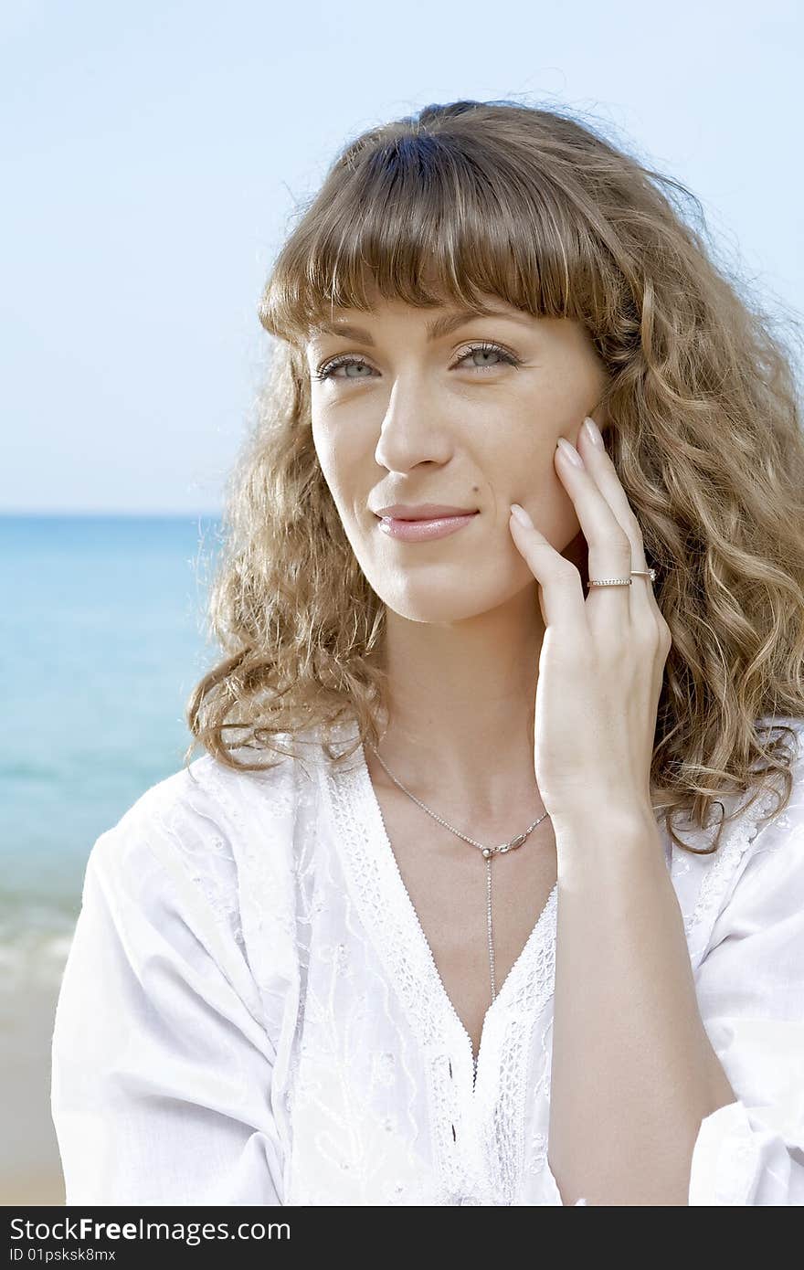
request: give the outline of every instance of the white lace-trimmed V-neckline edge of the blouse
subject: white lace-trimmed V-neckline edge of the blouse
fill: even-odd
[[[361,744],[356,751],[357,767],[353,768],[358,782],[358,790],[361,795],[361,801],[367,809],[370,815],[370,836],[373,843],[376,860],[384,869],[384,876],[387,885],[391,889],[392,898],[396,900],[396,911],[400,913],[403,921],[406,926],[408,946],[418,947],[420,952],[420,960],[427,968],[425,973],[429,978],[429,989],[436,996],[441,1005],[441,1010],[451,1020],[453,1026],[456,1026],[462,1038],[466,1048],[469,1049],[471,1067],[472,1067],[472,1092],[475,1091],[478,1083],[478,1076],[481,1071],[481,1058],[484,1053],[484,1041],[486,1034],[494,1025],[494,1020],[500,1012],[506,1011],[509,1001],[516,996],[517,988],[527,975],[532,960],[536,958],[545,937],[547,937],[553,931],[553,916],[558,904],[558,880],[553,886],[545,904],[536,918],[536,922],[525,941],[516,961],[508,970],[500,988],[494,996],[494,1001],[490,1001],[486,1006],[485,1013],[483,1016],[483,1024],[480,1027],[480,1040],[478,1043],[478,1053],[475,1055],[475,1048],[472,1044],[469,1029],[464,1024],[464,1020],[459,1015],[450,993],[446,989],[445,982],[441,978],[441,972],[436,964],[436,958],[433,956],[433,950],[431,947],[429,940],[424,933],[424,927],[419,919],[415,904],[410,898],[410,893],[405,885],[405,880],[401,875],[391,839],[389,837],[385,818],[382,815],[382,808],[380,806],[380,800],[377,792],[373,787],[373,781],[371,779],[371,772],[368,770],[368,763],[366,762],[366,752]],[[382,931],[382,923],[380,923],[380,930]],[[540,1003],[532,1002],[533,1008],[540,1008]]]

